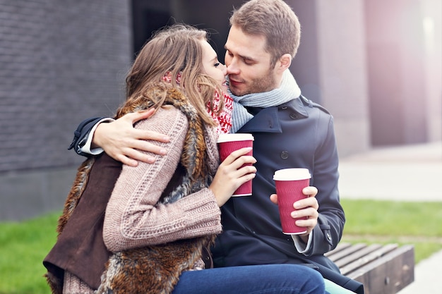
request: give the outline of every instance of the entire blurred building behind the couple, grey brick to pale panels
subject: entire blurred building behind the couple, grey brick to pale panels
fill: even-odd
[[[222,61],[243,2],[0,0],[0,221],[62,207],[83,161],[67,150],[73,130],[113,116],[153,31],[210,29]],[[440,0],[286,2],[302,27],[291,71],[333,114],[341,158],[442,139]]]

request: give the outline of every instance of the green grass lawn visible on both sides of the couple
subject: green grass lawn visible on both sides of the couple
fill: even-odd
[[[413,244],[416,262],[442,250],[442,202],[342,200],[343,242]],[[0,223],[0,294],[49,294],[42,260],[60,212]]]

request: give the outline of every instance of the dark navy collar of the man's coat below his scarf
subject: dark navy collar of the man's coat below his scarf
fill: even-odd
[[[250,108],[250,112],[255,114],[250,121],[238,130],[238,133],[282,133],[278,112],[289,109],[289,111],[294,111],[304,118],[307,118],[309,117],[309,113],[304,104],[309,105],[309,100],[301,96],[278,106],[265,107],[263,109],[257,107]]]

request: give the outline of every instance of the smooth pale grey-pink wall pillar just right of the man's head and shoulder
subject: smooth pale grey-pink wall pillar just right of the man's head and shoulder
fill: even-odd
[[[318,1],[317,11],[323,104],[345,157],[371,148],[364,1]]]

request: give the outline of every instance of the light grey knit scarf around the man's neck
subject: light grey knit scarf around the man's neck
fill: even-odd
[[[268,92],[245,94],[244,96],[235,96],[230,92],[234,100],[232,129],[230,133],[236,133],[243,125],[253,118],[244,106],[251,107],[271,107],[289,102],[290,100],[301,96],[301,89],[294,80],[292,73],[287,69],[282,75],[280,87]]]

